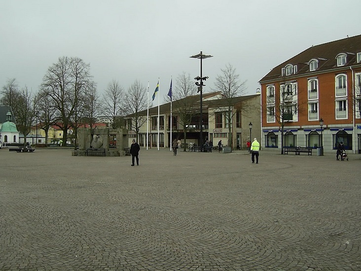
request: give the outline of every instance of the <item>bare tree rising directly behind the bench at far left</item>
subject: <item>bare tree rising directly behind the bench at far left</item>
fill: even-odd
[[[31,131],[36,116],[34,96],[27,87],[21,89],[16,103],[16,126],[24,135],[24,146],[26,146],[26,137]]]

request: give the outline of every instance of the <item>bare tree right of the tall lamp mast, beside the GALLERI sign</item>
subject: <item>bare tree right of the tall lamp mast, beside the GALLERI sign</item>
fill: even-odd
[[[232,138],[232,123],[233,116],[236,115],[237,111],[234,110],[234,98],[239,97],[245,93],[245,84],[247,81],[240,82],[239,75],[236,74],[236,69],[231,64],[225,66],[224,69],[220,69],[221,74],[217,75],[215,82],[214,91],[220,91],[223,103],[217,106],[217,111],[222,113],[226,123],[228,123],[228,146],[233,149],[233,138]],[[238,109],[240,110],[240,109]],[[243,107],[242,111],[247,111]],[[241,114],[242,114],[241,111]]]

